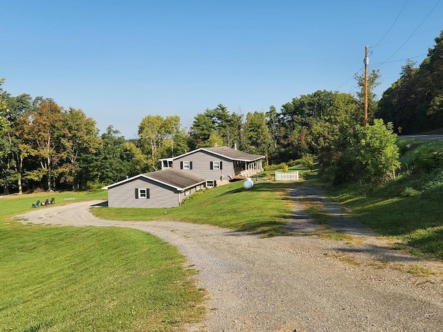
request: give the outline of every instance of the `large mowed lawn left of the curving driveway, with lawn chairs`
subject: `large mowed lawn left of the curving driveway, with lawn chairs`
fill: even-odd
[[[46,196],[62,204],[105,194]],[[44,196],[0,199],[1,332],[185,331],[184,324],[204,320],[206,294],[196,286],[196,271],[160,239],[123,228],[11,219]]]

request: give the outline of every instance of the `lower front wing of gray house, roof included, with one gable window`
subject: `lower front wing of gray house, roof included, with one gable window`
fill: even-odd
[[[205,188],[206,180],[179,169],[140,174],[102,187],[110,208],[172,208]]]

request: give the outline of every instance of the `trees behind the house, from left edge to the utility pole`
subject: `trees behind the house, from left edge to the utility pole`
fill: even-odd
[[[81,109],[63,109],[50,98],[1,91],[0,184],[4,194],[35,190],[84,190],[152,172],[159,160],[198,147],[236,146],[266,157],[266,164],[320,156],[327,173],[343,153],[343,134],[361,125],[363,113],[347,93],[316,91],[267,112],[230,112],[219,104],[197,113],[192,126],[179,116],[145,116],[138,138],[114,127],[99,134]],[[350,136],[347,136],[350,137]]]

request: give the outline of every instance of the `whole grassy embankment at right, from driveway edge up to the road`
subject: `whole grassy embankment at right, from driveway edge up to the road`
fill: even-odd
[[[438,154],[443,154],[443,142],[404,139],[399,140],[399,146],[402,165],[399,176],[379,190],[364,194],[358,185],[320,187],[330,199],[349,208],[352,219],[370,230],[399,239],[415,255],[443,259],[443,168],[437,167],[433,160],[427,171],[417,165],[417,156],[438,158]],[[435,154],[417,154],[417,151],[435,151]]]

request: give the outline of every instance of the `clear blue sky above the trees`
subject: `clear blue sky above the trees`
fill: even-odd
[[[434,46],[440,1],[3,1],[0,77],[12,95],[53,98],[126,138],[147,115],[190,127],[217,104],[246,116],[355,93],[365,45],[380,96]]]

